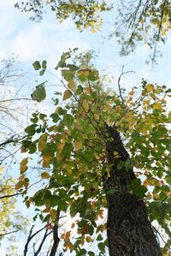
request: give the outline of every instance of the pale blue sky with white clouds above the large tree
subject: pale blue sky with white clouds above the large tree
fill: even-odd
[[[139,46],[137,51],[129,57],[120,57],[120,46],[115,39],[103,39],[103,36],[106,36],[112,28],[111,15],[104,15],[109,22],[104,25],[100,33],[92,34],[88,30],[80,33],[73,21],[68,19],[59,24],[53,13],[44,15],[41,23],[29,21],[27,14],[14,8],[15,2],[16,0],[0,0],[0,60],[8,59],[14,54],[21,62],[21,66],[33,73],[32,63],[46,59],[48,68],[55,72],[54,67],[59,62],[62,52],[68,51],[68,48],[79,47],[80,51],[98,52],[95,65],[101,72],[113,77],[112,86],[114,87],[123,65],[125,71],[134,71],[121,80],[121,85],[126,88],[139,86],[142,78],[151,83],[156,82],[170,87],[171,36],[168,37],[166,45],[162,46],[163,57],[158,59],[157,66],[152,67],[145,64],[148,51],[144,46]],[[29,97],[30,91],[26,93]]]

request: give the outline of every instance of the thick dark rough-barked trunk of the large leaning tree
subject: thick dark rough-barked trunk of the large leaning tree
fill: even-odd
[[[110,176],[104,177],[103,186],[108,201],[107,235],[110,256],[159,256],[162,255],[156,236],[148,219],[143,199],[128,193],[128,186],[136,179],[133,169],[123,166],[118,170],[119,161],[124,163],[129,154],[123,146],[121,136],[115,128],[106,126]],[[115,158],[118,152],[120,158]],[[114,191],[112,193],[112,191]]]

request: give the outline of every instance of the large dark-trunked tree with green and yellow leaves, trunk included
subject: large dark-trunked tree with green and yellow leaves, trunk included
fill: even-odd
[[[21,152],[39,153],[38,170],[46,181],[44,188],[27,196],[26,204],[43,206],[43,222],[54,220],[58,210],[79,217],[61,237],[66,250],[76,255],[95,255],[85,250],[85,242],[97,240],[99,255],[162,255],[156,228],[164,230],[170,247],[170,112],[167,98],[171,90],[142,80],[123,94],[103,88],[95,68],[68,63],[72,52],[62,54],[56,69],[62,68],[65,91],[50,119],[44,113],[32,114],[25,129]],[[40,74],[46,62],[33,63]],[[38,102],[44,99],[44,83],[32,92]],[[30,158],[21,161],[16,188],[27,193]],[[26,183],[27,181],[27,183]],[[108,209],[107,227],[99,223]],[[148,213],[147,213],[148,212]],[[152,224],[152,226],[151,226]],[[72,240],[72,229],[77,236]],[[103,239],[107,228],[108,241]],[[162,235],[160,235],[162,237]],[[160,238],[161,239],[161,238]]]

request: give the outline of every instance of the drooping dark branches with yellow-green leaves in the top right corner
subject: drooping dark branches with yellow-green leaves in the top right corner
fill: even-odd
[[[114,35],[122,45],[121,54],[126,55],[143,42],[150,47],[150,60],[156,61],[161,54],[157,44],[164,43],[171,29],[171,3],[159,1],[121,1],[119,15],[115,21]]]

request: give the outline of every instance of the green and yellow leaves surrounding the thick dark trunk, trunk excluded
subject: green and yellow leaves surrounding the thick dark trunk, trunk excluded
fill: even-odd
[[[22,141],[21,152],[39,155],[38,170],[42,170],[40,176],[46,181],[44,188],[26,197],[27,207],[43,207],[39,214],[43,222],[56,221],[58,209],[69,212],[76,220],[62,235],[66,250],[74,250],[76,255],[95,255],[86,252],[84,245],[96,240],[99,255],[105,255],[105,193],[117,192],[117,188],[103,189],[103,177],[110,175],[106,146],[111,138],[106,126],[115,127],[131,156],[126,163],[120,161],[117,168],[123,164],[127,170],[134,168],[137,179],[128,188],[129,193],[146,201],[150,222],[155,220],[167,235],[163,248],[167,252],[171,244],[171,112],[167,110],[171,90],[142,80],[141,92],[136,87],[127,95],[105,91],[98,71],[68,64],[69,54],[63,53],[56,66],[62,68],[63,103],[56,98],[56,110],[50,117],[33,113],[31,124],[25,129],[27,137]],[[39,101],[40,94],[33,99]],[[118,152],[115,158],[120,158]],[[27,177],[31,162],[28,156],[21,161],[16,188],[23,193],[32,182]]]

